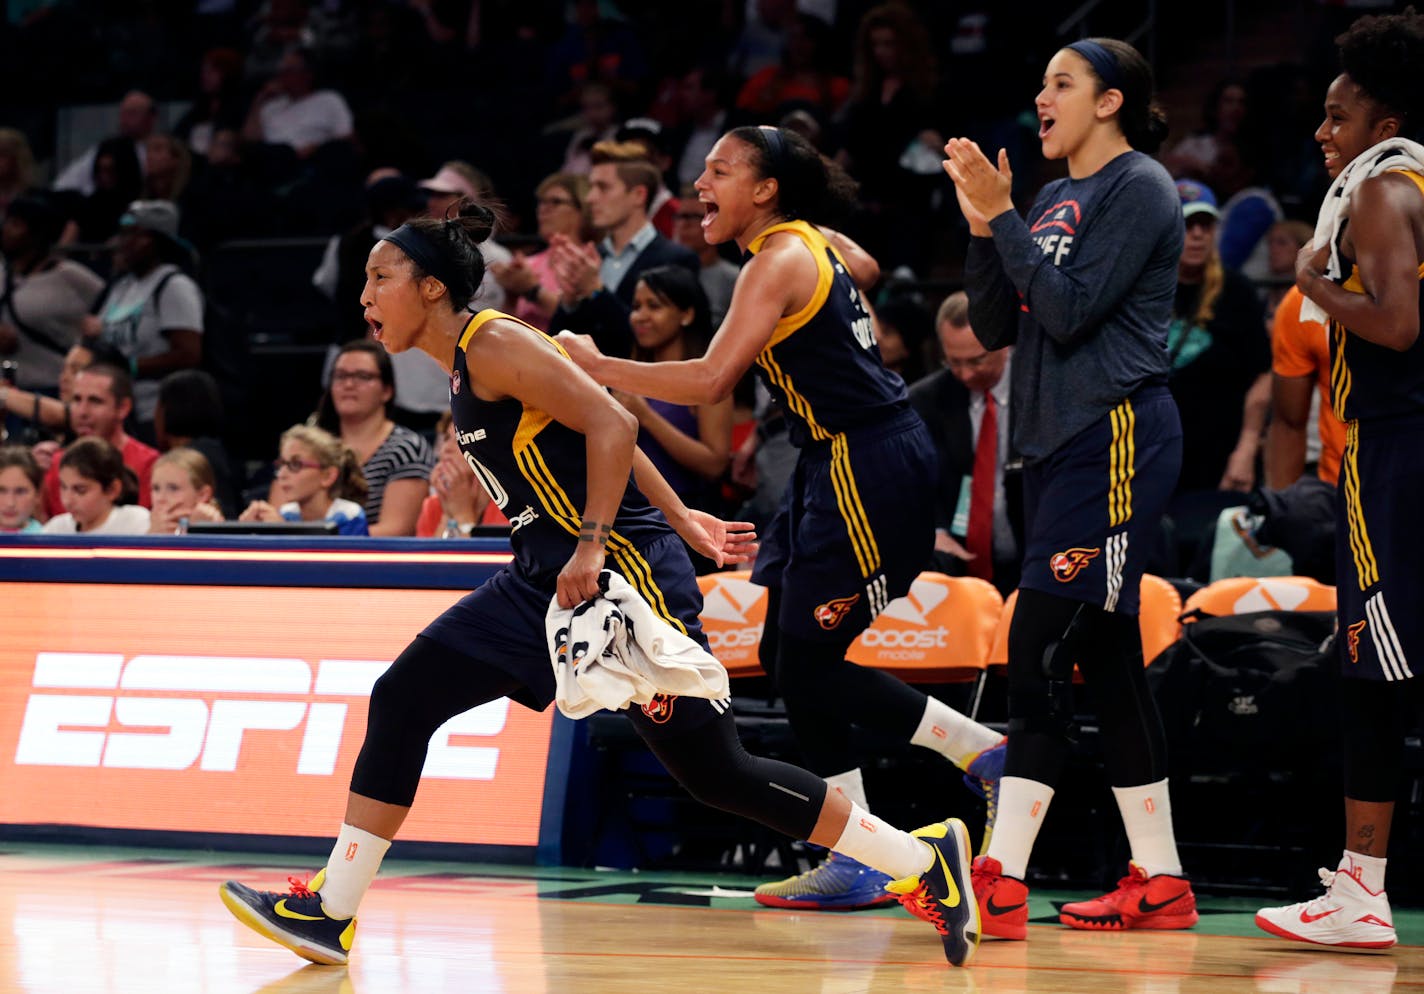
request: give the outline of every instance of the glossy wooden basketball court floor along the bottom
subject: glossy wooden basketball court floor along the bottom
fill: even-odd
[[[256,862],[263,860],[263,862]],[[1424,913],[1397,909],[1401,941],[1343,953],[1257,933],[1252,899],[1203,900],[1190,933],[1030,928],[944,964],[900,909],[758,910],[750,881],[656,873],[390,862],[362,907],[349,968],[303,966],[238,924],[229,877],[286,889],[316,862],[174,850],[0,846],[0,991],[26,994],[860,994],[1424,991]],[[1031,911],[1052,921],[1054,900]]]

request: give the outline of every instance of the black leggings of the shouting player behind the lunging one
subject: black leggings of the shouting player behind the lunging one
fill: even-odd
[[[846,651],[860,632],[833,642],[813,642],[776,624],[780,588],[766,600],[766,628],[760,659],[786,702],[786,719],[806,766],[817,776],[834,776],[860,766],[852,725],[909,742],[924,716],[924,694],[883,669],[860,666]]]

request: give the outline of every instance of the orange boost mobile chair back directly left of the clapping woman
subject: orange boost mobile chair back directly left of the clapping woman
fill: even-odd
[[[1004,598],[977,577],[921,572],[846,654],[862,666],[926,684],[975,679],[988,661]]]

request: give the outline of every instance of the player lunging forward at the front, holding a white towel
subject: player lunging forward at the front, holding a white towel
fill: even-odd
[[[678,500],[638,450],[632,414],[554,339],[498,310],[468,312],[484,275],[478,244],[493,226],[488,209],[467,202],[460,216],[397,228],[366,265],[362,303],[373,336],[392,352],[420,349],[450,372],[457,441],[513,525],[514,563],[436,618],[376,681],[326,867],[290,894],[222,887],[239,920],[318,963],[346,961],[357,904],[410,812],[436,729],[501,696],[540,711],[553,701],[551,600],[572,608],[597,597],[600,571],[611,568],[706,648],[682,540],[719,564],[752,548],[748,525]],[[880,867],[934,921],[950,963],[973,956],[978,916],[960,899],[968,893],[961,822],[913,836],[806,770],[749,756],[726,699],[659,695],[628,716],[693,796]]]

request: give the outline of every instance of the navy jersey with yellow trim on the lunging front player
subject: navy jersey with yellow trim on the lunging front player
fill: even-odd
[[[470,318],[454,353],[450,375],[450,413],[454,417],[460,451],[474,474],[490,491],[514,528],[510,544],[520,571],[530,581],[553,581],[578,544],[578,525],[588,496],[587,447],[584,436],[560,424],[545,412],[528,407],[515,397],[481,400],[470,386],[466,347],[494,319],[517,318],[498,310],[481,310]],[[570,363],[568,353],[535,328],[548,343],[548,360]],[[644,591],[648,565],[638,551],[672,534],[662,511],[648,503],[628,480],[608,555],[628,581]],[[654,608],[659,605],[654,602]]]

